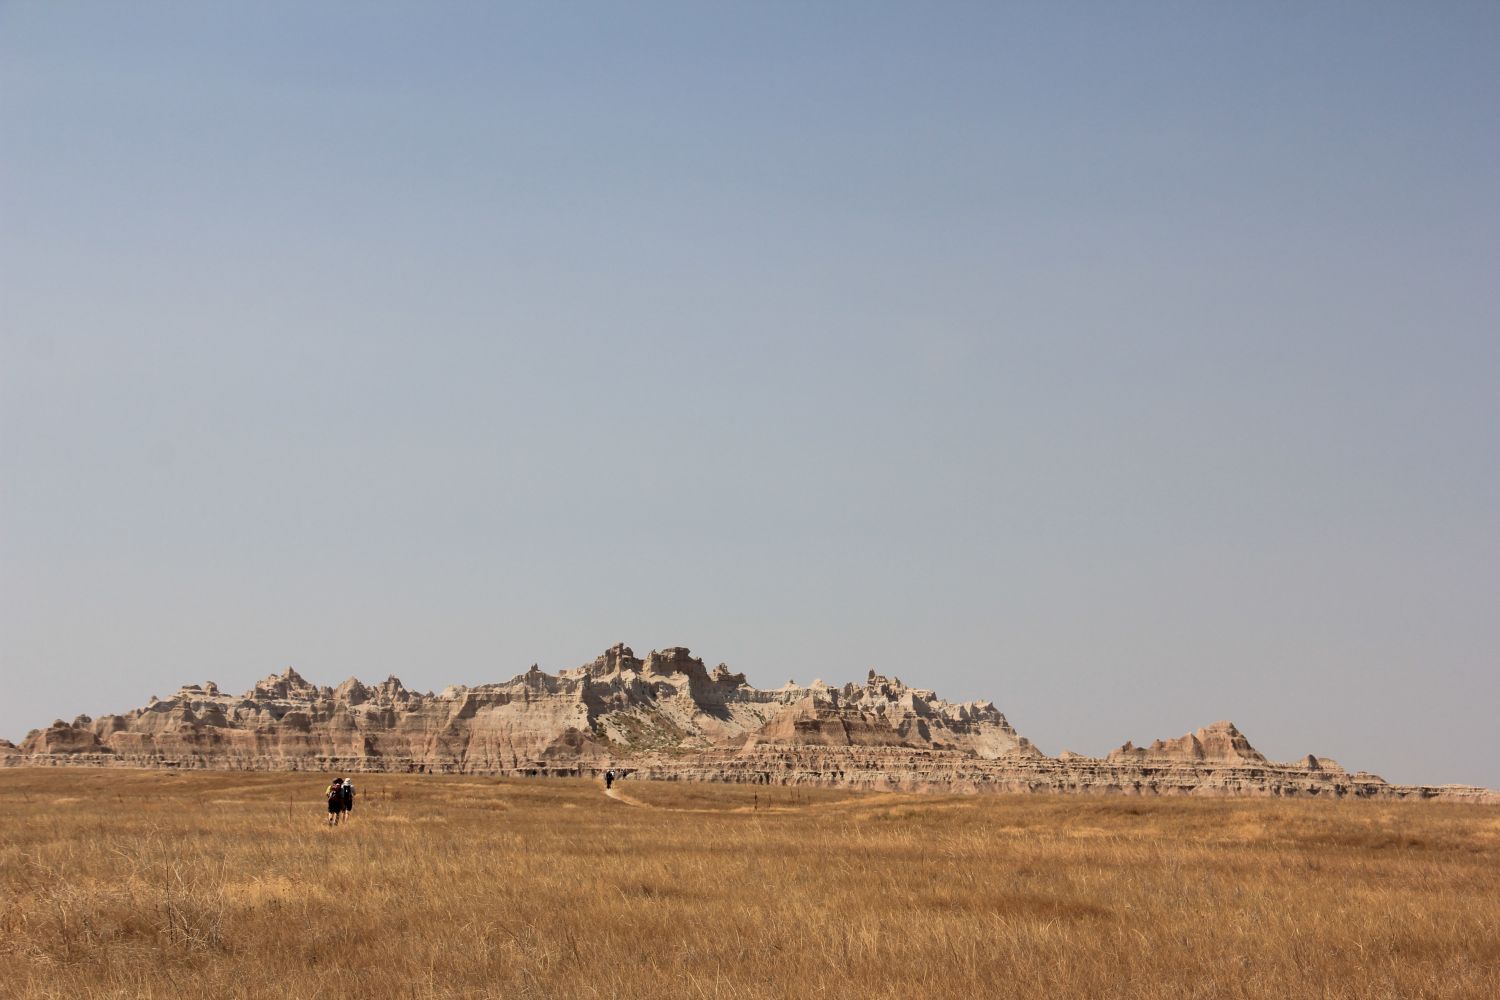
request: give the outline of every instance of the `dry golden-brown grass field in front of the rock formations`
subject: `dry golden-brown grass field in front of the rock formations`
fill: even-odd
[[[1500,810],[0,771],[3,997],[1500,997]]]

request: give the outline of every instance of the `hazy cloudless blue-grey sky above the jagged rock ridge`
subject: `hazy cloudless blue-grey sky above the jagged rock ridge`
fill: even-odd
[[[0,736],[627,642],[1500,787],[1497,52],[0,1]]]

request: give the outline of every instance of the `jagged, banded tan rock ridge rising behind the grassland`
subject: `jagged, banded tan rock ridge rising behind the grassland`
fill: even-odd
[[[1500,802],[1472,786],[1398,786],[1326,757],[1268,760],[1230,723],[1107,757],[1048,757],[988,702],[952,703],[873,670],[864,684],[746,684],[687,649],[628,646],[573,670],[408,691],[316,687],[288,669],[242,696],[214,684],[124,715],[62,720],[0,766],[597,775],[945,792],[1362,796]]]

